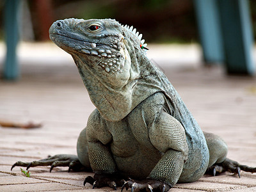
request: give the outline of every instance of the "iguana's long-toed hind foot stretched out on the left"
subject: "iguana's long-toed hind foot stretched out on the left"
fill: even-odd
[[[50,172],[56,166],[68,166],[68,172],[70,172],[70,170],[85,170],[83,164],[78,160],[78,157],[70,154],[58,154],[56,156],[49,156],[48,158],[32,162],[17,161],[13,164],[11,170],[15,166],[26,166],[27,170],[33,166],[51,166]]]

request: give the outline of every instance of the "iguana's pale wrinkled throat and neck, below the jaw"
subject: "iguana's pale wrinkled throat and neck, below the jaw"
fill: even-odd
[[[83,56],[73,55],[79,74],[88,90],[90,99],[106,120],[118,121],[127,116],[132,109],[150,95],[161,91],[155,86],[157,81],[150,76],[152,63],[145,54],[141,54],[134,47],[129,47],[129,40],[125,43],[126,59],[124,67],[116,74],[116,84],[109,83],[109,76],[103,76],[94,68],[88,67],[88,60]],[[140,55],[137,55],[140,54]],[[126,70],[126,72],[124,72]],[[143,72],[144,71],[144,72]],[[126,74],[126,75],[125,75]],[[117,77],[118,76],[118,77]],[[124,76],[127,76],[124,78]],[[145,78],[145,76],[147,76]],[[124,78],[124,81],[120,79]],[[111,81],[113,82],[113,81]]]

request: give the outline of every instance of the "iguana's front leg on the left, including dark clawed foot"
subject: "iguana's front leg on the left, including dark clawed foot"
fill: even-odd
[[[116,189],[124,181],[118,175],[116,163],[109,149],[112,136],[102,122],[99,111],[95,110],[88,118],[87,129],[88,154],[91,167],[95,175],[86,177],[84,184],[92,184],[92,188],[109,186]]]

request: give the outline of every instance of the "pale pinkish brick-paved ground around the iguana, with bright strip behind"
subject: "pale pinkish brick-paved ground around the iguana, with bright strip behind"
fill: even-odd
[[[109,191],[83,187],[84,177],[92,173],[68,173],[67,168],[49,173],[49,167],[38,167],[30,169],[28,178],[18,167],[10,171],[18,160],[76,154],[77,136],[94,108],[70,56],[51,44],[20,47],[20,81],[0,81],[0,122],[43,126],[0,127],[0,191]],[[228,157],[256,166],[256,79],[225,76],[221,67],[200,67],[195,45],[148,47],[149,56],[163,68],[202,129],[227,141]],[[3,50],[0,44],[0,68]],[[256,191],[256,173],[242,172],[241,179],[230,173],[205,176],[170,191]]]

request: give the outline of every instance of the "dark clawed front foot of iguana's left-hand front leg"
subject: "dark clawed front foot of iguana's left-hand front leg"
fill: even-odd
[[[84,179],[84,186],[86,183],[90,183],[93,189],[109,186],[110,188],[116,190],[117,187],[124,185],[125,180],[120,179],[120,175],[95,173],[93,177],[88,176]]]

